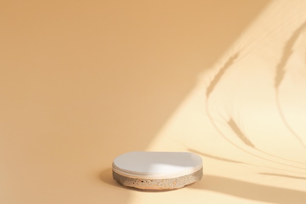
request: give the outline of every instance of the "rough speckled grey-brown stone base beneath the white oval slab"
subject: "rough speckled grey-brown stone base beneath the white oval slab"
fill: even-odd
[[[113,179],[121,183],[122,185],[131,186],[140,189],[154,189],[154,190],[181,188],[185,185],[200,181],[202,176],[203,176],[203,168],[201,168],[195,173],[173,179],[129,178],[119,175],[116,172],[112,171]]]

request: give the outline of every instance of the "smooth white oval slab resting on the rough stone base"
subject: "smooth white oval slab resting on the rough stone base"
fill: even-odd
[[[197,172],[202,159],[189,152],[129,152],[114,159],[112,169],[130,178],[171,179]]]

